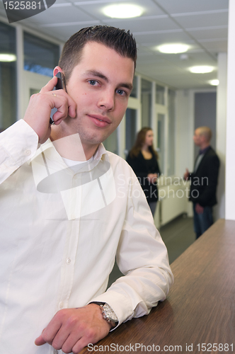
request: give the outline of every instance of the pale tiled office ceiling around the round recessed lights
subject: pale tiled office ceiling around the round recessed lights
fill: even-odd
[[[139,4],[138,18],[113,19],[102,13],[110,3]],[[205,89],[217,79],[217,54],[227,52],[229,0],[56,0],[46,11],[19,21],[40,33],[65,42],[90,25],[113,25],[130,30],[137,40],[137,72],[176,89]],[[2,2],[0,14],[6,18]],[[180,54],[161,54],[163,43],[190,45],[188,59]],[[191,74],[188,67],[212,65],[209,74]]]

